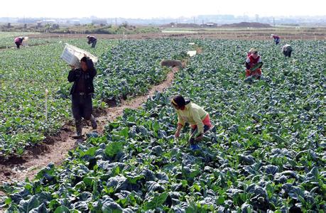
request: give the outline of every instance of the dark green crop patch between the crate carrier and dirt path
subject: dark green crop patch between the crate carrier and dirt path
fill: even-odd
[[[103,100],[119,100],[144,94],[153,84],[165,80],[169,69],[161,60],[186,57],[187,40],[123,40],[102,55],[96,87]]]

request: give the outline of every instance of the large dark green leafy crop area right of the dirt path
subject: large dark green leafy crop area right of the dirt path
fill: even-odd
[[[9,211],[325,212],[322,43],[293,41],[294,57],[283,58],[268,42],[195,42],[203,53],[164,93],[90,134],[62,166],[4,185]],[[263,79],[245,82],[252,46]],[[188,128],[173,137],[175,94],[210,113],[200,151],[189,150]]]

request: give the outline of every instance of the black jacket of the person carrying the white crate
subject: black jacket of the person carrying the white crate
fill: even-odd
[[[85,75],[86,94],[93,93],[94,92],[93,80],[94,80],[94,77],[96,74],[97,74],[97,71],[95,70],[94,64],[90,58],[87,58],[87,71],[86,72],[82,71],[82,68],[70,70],[69,75],[68,75],[68,81],[74,82],[74,84],[72,84],[72,87],[70,89],[70,94],[75,93],[75,90],[77,87],[77,82],[82,75]]]

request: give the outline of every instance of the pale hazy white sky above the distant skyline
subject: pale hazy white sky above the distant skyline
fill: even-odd
[[[1,0],[0,17],[157,18],[236,16],[323,16],[326,0]]]

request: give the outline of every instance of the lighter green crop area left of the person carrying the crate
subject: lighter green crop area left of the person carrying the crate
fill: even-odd
[[[66,40],[77,45],[82,40]],[[111,42],[103,41],[95,55],[101,55]],[[2,50],[0,65],[0,155],[20,155],[26,146],[56,133],[70,117],[70,67],[60,59],[62,40],[47,45]],[[48,121],[45,121],[45,89],[48,89]],[[98,106],[100,102],[95,102]]]

